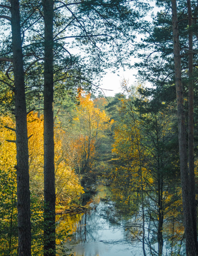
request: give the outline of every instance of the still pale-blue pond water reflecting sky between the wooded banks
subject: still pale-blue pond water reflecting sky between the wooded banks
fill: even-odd
[[[133,222],[133,218],[117,215],[109,187],[98,185],[97,191],[91,203],[93,210],[84,214],[67,214],[59,220],[61,228],[69,223],[72,234],[64,247],[71,248],[70,253],[74,256],[143,256],[141,235],[137,231],[134,237],[127,228],[127,223]],[[141,223],[139,230],[140,226]],[[148,246],[145,248],[147,255],[151,255]],[[152,248],[153,255],[156,255],[157,243],[153,243]],[[66,252],[59,252],[59,255],[66,255]],[[169,246],[164,246],[163,255],[171,255]]]

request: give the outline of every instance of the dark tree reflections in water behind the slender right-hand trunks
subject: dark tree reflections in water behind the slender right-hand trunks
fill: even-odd
[[[131,245],[137,246],[137,243],[142,243],[142,233],[143,233],[143,217],[142,217],[142,207],[141,201],[139,199],[139,194],[136,193],[136,200],[132,200],[123,205],[123,202],[126,198],[130,198],[129,193],[125,192],[120,193],[119,189],[117,192],[113,189],[114,193],[111,194],[111,198],[108,200],[113,200],[114,202],[114,210],[112,211],[112,207],[106,208],[106,216],[112,223],[117,223],[125,230],[124,235],[126,237],[126,241],[130,241]],[[152,192],[151,192],[152,193]],[[176,194],[176,193],[175,193]],[[122,199],[120,199],[120,195],[122,195]],[[163,252],[170,253],[168,255],[185,255],[185,248],[182,247],[184,244],[184,230],[182,223],[180,221],[180,216],[176,215],[178,213],[178,204],[176,198],[172,198],[174,202],[172,204],[167,205],[165,207],[166,219],[163,220],[163,236],[164,241],[162,240],[162,244],[165,242],[166,246]],[[126,201],[125,201],[126,202]],[[106,202],[109,204],[109,202]],[[146,251],[149,255],[157,256],[159,254],[159,240],[158,240],[158,228],[159,228],[159,217],[158,217],[158,206],[155,202],[154,195],[148,196],[148,194],[144,195],[144,212],[145,212],[145,239],[144,243],[146,246]],[[178,218],[177,218],[178,217]],[[146,253],[145,253],[146,254]]]

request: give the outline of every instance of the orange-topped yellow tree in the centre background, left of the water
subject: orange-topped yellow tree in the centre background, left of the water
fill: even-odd
[[[105,138],[105,132],[110,130],[114,121],[110,120],[104,110],[96,107],[91,94],[85,94],[79,89],[77,99],[79,104],[76,105],[73,118],[73,132],[69,136],[65,134],[64,144],[72,148],[72,151],[67,151],[69,164],[79,171],[79,175],[83,175],[92,168],[98,142]]]

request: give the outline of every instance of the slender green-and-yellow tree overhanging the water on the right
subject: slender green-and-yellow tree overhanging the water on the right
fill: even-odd
[[[125,204],[123,208],[133,215],[141,209],[139,218],[152,226],[153,244],[158,242],[163,247],[160,241],[167,232],[162,233],[163,223],[166,218],[179,221],[181,207],[178,140],[172,129],[176,123],[174,107],[148,99],[141,93],[141,85],[129,88],[123,84],[123,89],[126,97],[120,99],[120,119],[115,123],[115,160],[110,177],[118,194],[118,207]],[[175,205],[180,207],[175,210]],[[135,230],[131,232],[136,234]],[[181,234],[183,229],[176,232]]]

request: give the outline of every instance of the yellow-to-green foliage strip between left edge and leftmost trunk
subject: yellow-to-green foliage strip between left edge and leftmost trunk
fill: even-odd
[[[15,140],[15,132],[5,125],[14,128],[11,117],[0,117],[0,254],[3,255],[9,248],[10,252],[17,250],[17,236],[13,231],[17,227],[16,144],[6,141]]]

